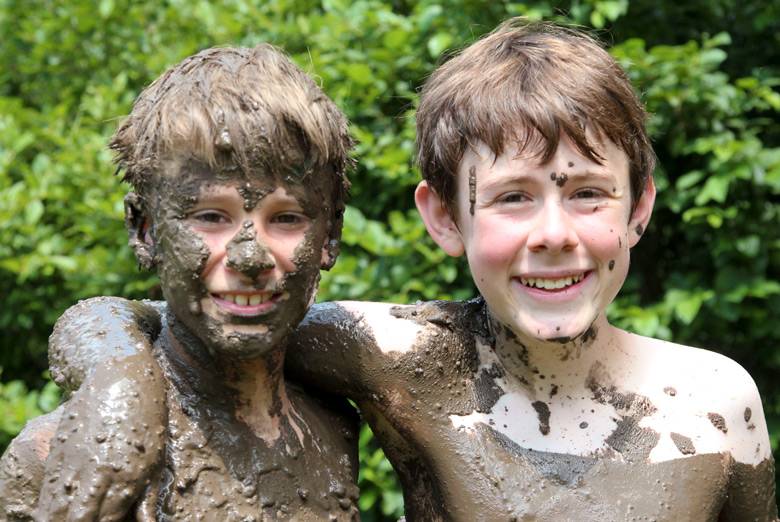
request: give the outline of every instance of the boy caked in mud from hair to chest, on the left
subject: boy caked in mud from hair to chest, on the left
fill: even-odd
[[[214,48],[144,90],[109,146],[165,302],[99,298],[60,319],[52,342],[77,332],[62,346],[84,384],[4,455],[0,518],[359,519],[356,413],[282,372],[338,254],[344,115],[275,48]],[[133,338],[145,359],[120,351]],[[87,365],[90,342],[119,362]]]

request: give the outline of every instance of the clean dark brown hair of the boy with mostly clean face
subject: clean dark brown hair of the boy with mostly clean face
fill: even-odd
[[[415,116],[416,163],[455,217],[458,166],[483,142],[496,156],[543,165],[561,136],[597,163],[612,141],[629,159],[632,211],[655,167],[647,113],[617,61],[580,31],[527,19],[507,20],[433,72]],[[587,132],[586,132],[587,131]]]

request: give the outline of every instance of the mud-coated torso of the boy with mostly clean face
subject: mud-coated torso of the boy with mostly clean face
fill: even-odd
[[[372,373],[374,393],[358,404],[405,486],[410,522],[715,521],[735,482],[752,477],[740,475],[750,466],[728,454],[686,452],[684,441],[680,458],[653,462],[648,456],[659,435],[642,424],[652,404],[597,385],[585,402],[612,408],[615,426],[602,449],[588,456],[538,451],[508,436],[499,423],[517,416],[546,435],[550,411],[546,400],[531,402],[525,413],[504,405],[512,390],[503,370],[480,357],[478,343],[491,342],[483,308],[481,299],[397,307],[392,315],[423,327],[418,345],[385,362],[378,351],[362,355],[377,356],[365,367],[385,366]],[[544,399],[549,393],[545,388]],[[771,460],[760,466],[771,481]],[[770,509],[747,508],[739,520],[771,520]]]

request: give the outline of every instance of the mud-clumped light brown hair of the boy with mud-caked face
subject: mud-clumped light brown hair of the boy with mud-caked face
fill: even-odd
[[[173,162],[195,159],[280,176],[327,176],[341,221],[353,140],[335,103],[272,45],[211,48],[166,71],[135,100],[108,145],[142,200]],[[328,186],[328,185],[326,185]]]

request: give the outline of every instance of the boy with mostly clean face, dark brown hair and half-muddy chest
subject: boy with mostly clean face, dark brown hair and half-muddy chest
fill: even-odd
[[[509,21],[427,82],[417,206],[481,295],[315,305],[286,362],[360,407],[407,520],[777,520],[746,372],[606,318],[655,198],[645,117],[607,52],[544,24]],[[148,351],[125,350],[98,358]]]

